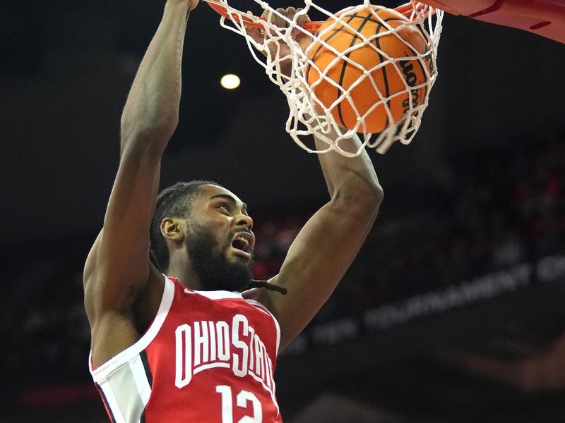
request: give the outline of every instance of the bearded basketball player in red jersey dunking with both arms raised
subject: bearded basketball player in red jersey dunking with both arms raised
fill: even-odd
[[[367,154],[321,155],[331,200],[280,273],[250,290],[253,220],[237,195],[194,181],[157,199],[197,2],[165,5],[124,108],[117,176],[85,263],[90,370],[112,422],[281,422],[276,355],[331,295],[383,197]],[[351,151],[359,145],[350,140]]]

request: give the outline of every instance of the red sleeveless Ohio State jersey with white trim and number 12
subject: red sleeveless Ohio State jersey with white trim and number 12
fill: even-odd
[[[282,422],[280,327],[254,300],[165,277],[145,334],[90,373],[112,423]]]

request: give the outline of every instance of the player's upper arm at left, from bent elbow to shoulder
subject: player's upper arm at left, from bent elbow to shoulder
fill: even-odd
[[[104,227],[85,264],[85,302],[98,311],[127,307],[132,293],[155,271],[149,260],[149,228],[159,173],[160,154],[122,155]]]

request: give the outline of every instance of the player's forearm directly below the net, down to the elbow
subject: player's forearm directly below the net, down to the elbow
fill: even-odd
[[[315,140],[318,149],[327,147],[325,142],[316,138]],[[361,147],[361,141],[355,135],[350,140],[342,140],[340,147],[347,152],[355,153]],[[345,157],[332,151],[319,154],[319,159],[331,197],[340,192],[351,197],[376,202],[377,206],[380,204],[383,191],[366,150],[363,149],[357,157]]]

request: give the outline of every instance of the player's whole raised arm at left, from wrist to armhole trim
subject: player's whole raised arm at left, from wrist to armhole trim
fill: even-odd
[[[159,188],[162,152],[177,127],[181,62],[189,11],[196,0],[168,0],[121,118],[119,169],[104,226],[84,271],[85,308],[93,334],[95,364],[138,338],[133,304],[144,293],[142,314],[157,312],[162,290],[150,264],[149,228]],[[156,287],[156,288],[155,288]]]

